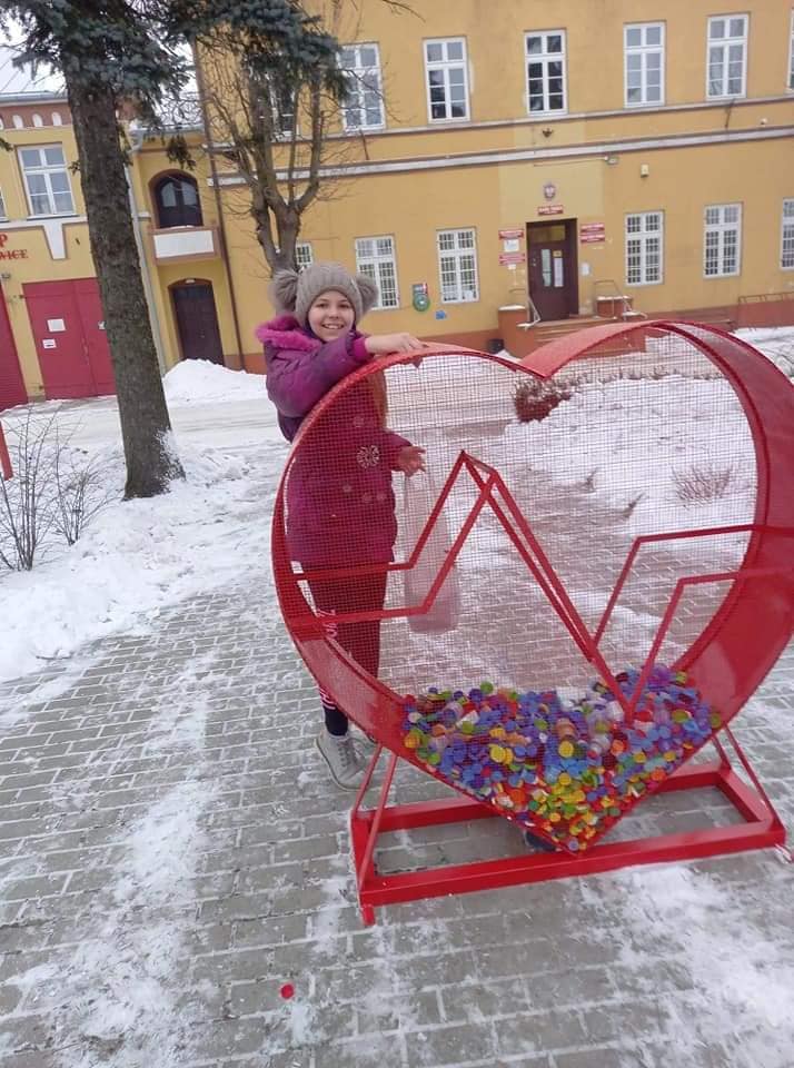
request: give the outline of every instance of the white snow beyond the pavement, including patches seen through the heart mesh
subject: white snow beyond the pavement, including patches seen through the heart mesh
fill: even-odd
[[[778,360],[794,347],[793,328],[744,330],[741,335]],[[443,363],[446,366],[446,362],[427,360],[423,373],[440,374]],[[472,366],[468,360],[468,388],[478,384],[486,387],[488,383],[493,387],[492,366],[486,362]],[[415,370],[407,367],[403,373]],[[709,424],[702,413],[709,404],[722,403],[717,394],[727,387],[719,380],[683,378],[667,379],[667,384],[681,394],[679,423],[686,428],[689,444],[706,455]],[[4,607],[0,679],[41,669],[50,660],[68,656],[113,631],[149,626],[168,604],[222,585],[244,571],[261,573],[267,568],[269,521],[265,496],[277,484],[286,445],[262,378],[192,360],[169,372],[165,387],[187,482],[175,484],[170,493],[151,501],[113,504],[77,545],[31,573],[0,576]],[[403,396],[409,392],[406,389]],[[619,421],[604,421],[603,413],[619,404],[639,404],[641,399],[642,383],[606,383],[601,389],[584,390],[564,403],[544,423],[529,428],[512,426],[507,433],[526,437],[530,429],[534,447],[549,451],[555,457],[565,456],[564,464],[555,463],[557,471],[564,471],[572,482],[583,481],[592,472],[592,451],[583,448],[577,435],[570,433],[572,423],[601,428],[601,455],[628,457],[636,443],[621,429]],[[494,414],[508,417],[504,402],[503,395],[502,408]],[[48,415],[54,411],[59,426],[72,434],[73,447],[107,457],[107,483],[120,495],[123,468],[116,399],[50,402],[42,407]],[[7,412],[7,429],[24,412]],[[435,414],[441,423],[459,419],[456,407],[446,415]],[[595,478],[596,491],[616,507],[625,507],[643,494],[629,517],[634,534],[656,528],[659,513],[671,503],[669,453],[675,443],[665,439],[665,427],[654,421],[645,431],[649,435],[646,466],[606,465]],[[750,469],[748,435],[737,436],[736,442],[736,455]],[[738,487],[745,504],[751,491],[750,485]],[[735,506],[735,495],[728,503]],[[724,512],[721,501],[701,505],[693,508],[692,525],[719,522],[725,518]]]

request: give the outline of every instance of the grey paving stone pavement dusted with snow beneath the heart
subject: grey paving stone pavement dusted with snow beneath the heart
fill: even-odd
[[[735,1068],[774,1040],[757,1015],[725,1034],[691,1019],[708,982],[685,931],[645,945],[614,876],[384,908],[364,928],[350,798],[312,748],[315,692],[265,566],[0,690],[3,1068]],[[794,646],[737,726],[788,828],[792,704]],[[396,787],[439,789],[411,769]],[[724,815],[676,794],[633,829]],[[518,851],[495,822],[394,835],[379,861]],[[774,851],[686,869],[761,930],[787,916],[792,959],[794,870]]]

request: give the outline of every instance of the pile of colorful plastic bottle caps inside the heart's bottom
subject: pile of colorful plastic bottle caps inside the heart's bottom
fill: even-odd
[[[616,681],[623,704],[601,681],[577,701],[489,682],[431,688],[405,699],[403,743],[435,777],[578,852],[722,725],[686,672],[661,664],[628,725],[624,704],[639,672]]]

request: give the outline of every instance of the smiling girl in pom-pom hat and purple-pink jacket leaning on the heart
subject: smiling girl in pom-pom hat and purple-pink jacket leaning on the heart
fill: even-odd
[[[357,324],[377,297],[375,284],[340,264],[312,264],[300,275],[279,271],[271,296],[277,318],[257,329],[265,345],[267,392],[278,422],[292,441],[306,415],[326,393],[374,356],[421,349],[410,334],[360,334]],[[389,563],[397,536],[391,472],[424,469],[424,449],[387,429],[384,375],[349,389],[292,463],[287,485],[287,541],[306,571]],[[329,633],[377,676],[380,624],[334,624],[334,615],[383,609],[386,573],[311,580],[318,615]],[[337,785],[355,790],[365,762],[348,719],[320,690],[325,724],[317,746]]]

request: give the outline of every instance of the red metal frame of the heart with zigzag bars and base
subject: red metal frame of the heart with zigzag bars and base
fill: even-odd
[[[288,462],[277,494],[272,524],[276,587],[287,626],[309,670],[321,681],[325,689],[339,701],[354,721],[375,733],[378,740],[391,750],[378,805],[374,810],[361,809],[363,798],[371,781],[375,763],[381,749],[378,750],[369,768],[351,815],[353,847],[365,922],[373,922],[374,909],[385,903],[607,871],[625,864],[684,860],[768,846],[783,846],[785,840],[783,825],[750,763],[736,744],[727,723],[772,669],[787,644],[794,625],[794,567],[791,563],[791,540],[794,536],[794,496],[791,493],[791,469],[794,456],[794,390],[791,383],[773,364],[738,338],[714,327],[667,320],[646,322],[642,326],[633,323],[594,327],[545,345],[518,365],[497,356],[487,356],[459,347],[429,346],[427,356],[433,358],[447,354],[470,353],[476,358],[488,359],[508,367],[513,373],[527,373],[538,378],[549,378],[572,360],[601,354],[614,356],[614,345],[605,346],[604,343],[617,342],[619,345],[624,336],[631,340],[629,335],[643,332],[682,337],[699,349],[731,384],[742,404],[754,442],[757,487],[755,515],[752,523],[741,526],[726,525],[685,532],[663,532],[638,537],[631,547],[604,615],[594,633],[588,632],[568,597],[530,524],[513,498],[509,487],[499,473],[487,464],[466,453],[459,454],[444,483],[425,531],[408,560],[395,564],[370,564],[355,568],[326,568],[311,573],[298,573],[290,564],[285,528],[284,495],[289,472]],[[410,358],[405,355],[387,357],[378,362],[378,368],[387,369]],[[338,395],[371,373],[373,368],[365,366],[349,375],[326,395],[305,421],[294,443],[292,456],[299,451],[304,437],[311,432],[311,427],[336,402]],[[346,613],[339,615],[338,620],[340,622],[384,620],[426,612],[438,595],[478,514],[487,506],[498,517],[514,547],[583,655],[593,663],[607,683],[614,683],[609,666],[605,663],[598,646],[642,546],[669,538],[740,533],[750,535],[744,560],[736,572],[678,578],[646,663],[641,669],[641,679],[635,693],[629,698],[623,698],[617,685],[611,686],[624,706],[626,719],[631,720],[643,682],[647,679],[684,591],[689,585],[702,583],[730,584],[726,596],[711,622],[675,666],[685,670],[692,685],[719,710],[724,724],[722,736],[727,738],[733,744],[754,789],[743,782],[731,767],[721,738],[712,735],[708,741],[717,750],[719,759],[716,763],[693,767],[687,762],[658,784],[653,792],[717,788],[741,813],[744,819],[743,824],[708,828],[685,834],[667,834],[652,840],[615,844],[595,843],[585,852],[575,856],[567,852],[535,853],[425,872],[397,876],[378,873],[375,850],[379,834],[398,829],[495,815],[504,817],[507,813],[499,813],[487,802],[465,795],[459,798],[453,795],[446,801],[423,804],[396,807],[387,804],[397,761],[404,759],[416,764],[401,745],[403,699],[384,683],[368,675],[327,636],[302,595],[301,583],[309,577],[354,577],[413,567],[441,514],[456,479],[464,474],[473,478],[479,493],[472,512],[453,542],[444,566],[428,591],[425,603],[381,612]],[[726,664],[731,665],[731,671],[725,670]],[[420,767],[429,773],[427,768]],[[628,808],[625,811],[627,812]]]

